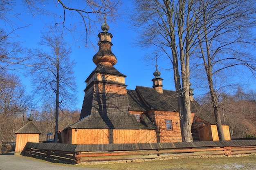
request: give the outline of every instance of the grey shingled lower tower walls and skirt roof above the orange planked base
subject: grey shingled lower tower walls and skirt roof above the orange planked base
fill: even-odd
[[[146,120],[142,124],[137,121],[135,115],[129,113],[127,94],[112,93],[110,91],[98,93],[97,84],[95,84],[95,89],[95,92],[91,92],[89,95],[90,101],[85,97],[80,120],[69,126],[70,128],[155,129],[152,123]]]

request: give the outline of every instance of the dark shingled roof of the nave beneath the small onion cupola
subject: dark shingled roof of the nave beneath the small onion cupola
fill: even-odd
[[[139,93],[141,100],[148,105],[146,110],[164,110],[178,112],[177,94],[175,91],[163,90],[163,93],[158,93],[154,88],[136,86],[136,91]],[[134,103],[133,101],[130,103]],[[191,102],[193,103],[193,102]],[[197,113],[195,104],[191,104],[191,113]]]

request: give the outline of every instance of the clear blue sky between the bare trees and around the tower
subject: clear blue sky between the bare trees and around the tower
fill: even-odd
[[[17,1],[19,4],[19,1]],[[46,7],[48,8],[48,7]],[[57,8],[54,6],[49,6],[52,10],[61,10],[61,6]],[[121,6],[122,9],[132,8],[130,1],[124,2]],[[20,25],[29,25],[23,29],[16,31],[18,41],[22,42],[22,46],[27,48],[36,48],[37,42],[40,40],[41,31],[46,31],[45,23],[52,22],[54,18],[50,16],[39,16],[32,15],[31,13],[27,13],[23,11],[21,6],[16,7],[17,11],[20,12],[19,17],[22,21],[17,21],[17,24]],[[25,22],[25,23],[24,23]],[[138,46],[136,46],[135,39],[137,38],[137,34],[135,31],[129,29],[129,24],[126,22],[126,17],[122,16],[121,20],[114,23],[107,19],[107,23],[110,26],[109,33],[112,33],[112,52],[117,57],[117,64],[115,68],[118,71],[126,75],[126,85],[127,89],[135,89],[136,86],[146,86],[152,87],[153,82],[151,79],[154,78],[153,72],[155,71],[155,60],[144,60],[144,57],[148,57],[148,53],[151,49],[142,50]],[[98,23],[98,29],[95,30],[96,33],[101,32],[101,24]],[[83,31],[83,28],[77,27],[78,30]],[[85,79],[90,75],[90,73],[94,70],[96,65],[92,62],[92,57],[98,51],[98,38],[93,38],[94,45],[96,46],[96,50],[94,48],[85,48],[83,44],[83,40],[77,38],[74,40],[70,40],[70,45],[72,46],[72,54],[71,57],[76,61],[76,66],[74,66],[74,73],[76,76],[76,84],[78,90],[78,99],[79,102],[77,104],[77,108],[82,108],[84,92],[83,90],[86,87]],[[154,56],[151,56],[152,58]],[[158,69],[162,73],[160,77],[164,79],[163,85],[166,90],[175,90],[173,83],[173,73],[171,70],[168,70],[171,67],[171,62],[169,60],[158,60]],[[27,90],[31,89],[30,77],[20,76],[22,78],[22,83],[27,86]],[[256,90],[255,79],[249,79],[248,77],[244,77],[243,82],[248,84],[249,89]],[[234,77],[236,79],[236,77]],[[194,88],[195,97],[196,94],[201,94],[202,91],[200,88],[192,86]]]

